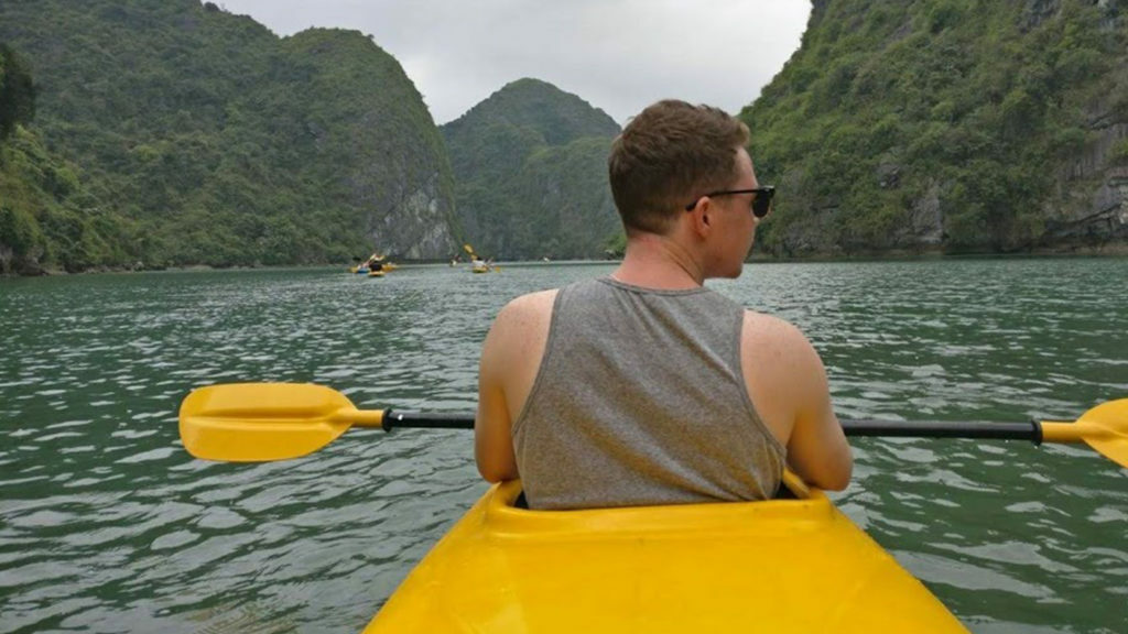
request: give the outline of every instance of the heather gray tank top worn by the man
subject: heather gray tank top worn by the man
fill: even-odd
[[[513,447],[532,509],[764,500],[785,450],[740,367],[744,309],[705,288],[561,289]]]

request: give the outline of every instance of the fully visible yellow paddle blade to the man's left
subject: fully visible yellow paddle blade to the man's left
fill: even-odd
[[[205,460],[253,463],[305,456],[345,432],[356,408],[312,384],[229,384],[180,403],[180,440]]]

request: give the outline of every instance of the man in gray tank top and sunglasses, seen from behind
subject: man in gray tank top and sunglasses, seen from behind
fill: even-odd
[[[615,140],[627,234],[608,278],[519,297],[482,351],[475,454],[535,509],[770,497],[784,466],[841,490],[853,458],[818,353],[705,289],[740,275],[774,190],[748,127],[659,102]]]

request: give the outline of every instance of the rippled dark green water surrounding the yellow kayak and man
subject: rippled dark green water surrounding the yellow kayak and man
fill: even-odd
[[[467,411],[510,298],[609,265],[0,282],[0,632],[358,632],[484,491],[468,432],[192,459],[190,389]],[[757,264],[844,417],[1072,417],[1128,396],[1128,259]],[[1128,632],[1128,470],[1083,447],[855,440],[841,508],[975,632]],[[891,600],[895,600],[891,598]]]

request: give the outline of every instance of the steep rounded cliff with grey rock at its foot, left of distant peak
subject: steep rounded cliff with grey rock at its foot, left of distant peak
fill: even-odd
[[[355,32],[310,29],[284,46],[303,68],[293,89],[307,95],[305,116],[325,126],[312,160],[344,167],[320,173],[341,182],[372,248],[408,259],[457,253],[446,148],[399,63]]]

